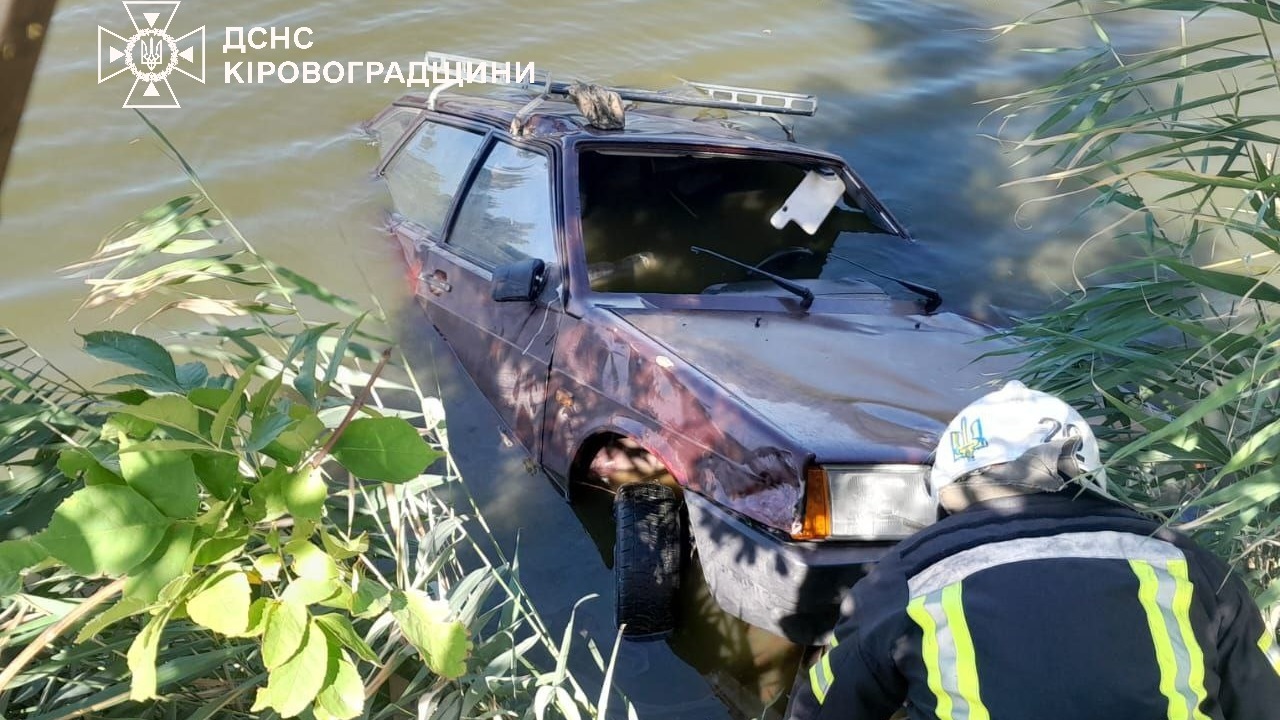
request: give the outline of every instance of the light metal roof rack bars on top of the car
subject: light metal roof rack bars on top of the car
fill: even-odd
[[[507,67],[509,63],[486,60],[484,58],[470,58],[466,55],[451,55],[447,53],[428,53],[426,65],[433,73],[433,82],[451,78],[466,82],[470,69],[476,67]],[[508,73],[509,74],[509,73]],[[568,96],[573,82],[554,81],[548,73],[532,72],[532,82],[511,82],[508,87],[518,87],[541,95]],[[515,79],[515,78],[513,78]],[[818,99],[813,95],[799,92],[782,92],[778,90],[762,90],[756,87],[737,87],[732,85],[713,85],[708,82],[694,82],[681,78],[685,86],[701,92],[705,97],[691,97],[671,95],[653,90],[637,90],[631,87],[604,87],[616,92],[620,99],[632,102],[654,102],[659,105],[685,105],[690,108],[710,108],[721,110],[737,110],[742,113],[768,113],[777,115],[809,115],[818,111]],[[434,104],[435,95],[449,85],[440,85],[431,92]]]

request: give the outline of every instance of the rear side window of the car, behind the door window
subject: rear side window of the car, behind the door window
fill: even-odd
[[[483,142],[483,135],[467,129],[422,123],[387,168],[396,209],[438,237],[453,195]]]

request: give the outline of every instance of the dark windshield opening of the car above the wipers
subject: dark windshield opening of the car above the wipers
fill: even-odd
[[[838,281],[865,277],[828,252],[856,256],[858,234],[892,231],[840,190],[832,170],[762,158],[584,152],[579,181],[591,290],[781,292],[750,270],[695,254],[695,246],[786,279],[832,281],[840,287]],[[818,217],[809,223],[815,232],[810,234],[795,222],[776,228],[771,222],[774,215],[818,173],[829,178],[828,184],[835,182],[836,191],[828,204],[819,201]]]

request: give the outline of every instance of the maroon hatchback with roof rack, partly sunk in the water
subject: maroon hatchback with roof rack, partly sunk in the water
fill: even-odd
[[[582,87],[410,95],[367,124],[415,293],[570,500],[617,491],[627,634],[671,628],[692,550],[724,610],[814,642],[934,520],[929,454],[1004,370],[991,329],[860,265],[913,246],[841,158],[669,102],[812,99],[590,86],[632,101],[600,122]]]

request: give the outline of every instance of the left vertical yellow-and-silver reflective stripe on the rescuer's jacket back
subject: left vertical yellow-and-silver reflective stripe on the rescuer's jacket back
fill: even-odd
[[[923,632],[920,652],[940,720],[989,720],[978,691],[978,665],[960,583],[916,597],[906,614]]]

